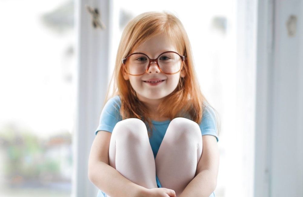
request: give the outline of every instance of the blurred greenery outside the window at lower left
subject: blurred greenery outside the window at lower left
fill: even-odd
[[[52,140],[58,143],[52,144]],[[6,161],[3,164],[5,178],[11,180],[10,184],[18,182],[14,181],[16,177],[36,181],[60,179],[62,158],[56,151],[62,144],[65,149],[71,145],[71,135],[68,132],[42,140],[32,131],[18,128],[14,124],[5,125],[0,129],[0,147]],[[52,154],[48,154],[50,151]],[[72,166],[71,154],[64,159],[65,163]]]

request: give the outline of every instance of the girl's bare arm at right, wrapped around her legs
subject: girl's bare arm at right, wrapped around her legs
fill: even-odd
[[[219,148],[215,136],[202,136],[202,155],[197,165],[195,178],[177,197],[209,197],[217,186]]]

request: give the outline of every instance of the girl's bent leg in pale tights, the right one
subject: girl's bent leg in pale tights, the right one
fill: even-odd
[[[155,158],[156,173],[164,188],[180,195],[195,177],[202,154],[202,135],[194,121],[173,119],[165,133]]]

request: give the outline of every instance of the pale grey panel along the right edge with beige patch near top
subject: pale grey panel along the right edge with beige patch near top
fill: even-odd
[[[299,0],[275,1],[272,83],[270,196],[302,193],[302,6]],[[300,109],[301,107],[301,109]],[[298,119],[300,117],[301,119]]]

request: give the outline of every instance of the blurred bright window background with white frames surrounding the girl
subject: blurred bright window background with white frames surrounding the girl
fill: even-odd
[[[181,20],[218,111],[215,195],[303,196],[301,0],[0,0],[0,197],[97,195],[94,131],[122,31],[147,11]]]

